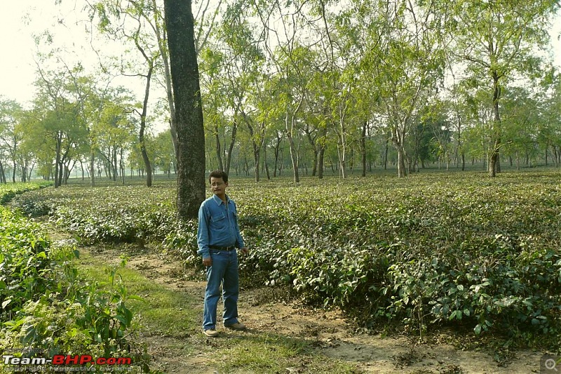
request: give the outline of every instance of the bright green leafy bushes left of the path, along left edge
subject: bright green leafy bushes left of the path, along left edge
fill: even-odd
[[[0,185],[0,201],[47,185]],[[108,274],[114,286],[102,289],[79,273],[72,242],[51,241],[39,223],[4,206],[0,215],[0,351],[39,358],[135,355],[125,338],[133,319],[126,306],[131,297],[114,279],[115,270]],[[135,357],[139,365],[144,361],[142,354]]]

